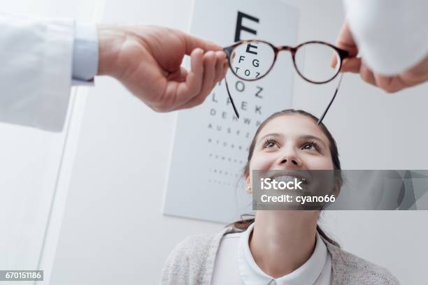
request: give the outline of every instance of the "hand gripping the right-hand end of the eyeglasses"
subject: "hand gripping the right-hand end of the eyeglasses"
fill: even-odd
[[[352,37],[350,29],[348,28],[347,22],[342,26],[336,45],[341,47],[343,50],[348,50],[348,52],[350,52],[351,58],[343,61],[341,67],[342,72],[359,73],[365,82],[380,87],[386,92],[397,92],[406,87],[412,87],[428,80],[428,56],[416,66],[413,66],[398,75],[385,76],[373,72],[368,66],[366,66],[364,59],[357,57],[358,47]],[[331,65],[336,66],[336,59],[331,61]]]

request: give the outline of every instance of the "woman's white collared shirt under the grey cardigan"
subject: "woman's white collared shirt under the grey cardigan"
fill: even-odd
[[[224,235],[215,258],[213,285],[329,285],[331,280],[331,256],[327,247],[316,235],[312,256],[301,267],[280,278],[263,272],[252,257],[248,240],[254,223],[242,233]]]

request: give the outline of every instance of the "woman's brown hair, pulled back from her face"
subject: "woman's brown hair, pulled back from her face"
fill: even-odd
[[[308,113],[304,110],[287,109],[287,110],[282,110],[282,111],[273,113],[270,117],[265,119],[264,122],[262,122],[262,124],[259,125],[259,128],[257,129],[254,138],[252,138],[252,142],[251,142],[251,145],[250,145],[250,148],[248,151],[247,163],[245,164],[245,167],[243,169],[243,175],[244,176],[250,170],[250,161],[252,158],[252,154],[254,152],[255,143],[257,141],[256,138],[259,135],[259,132],[262,131],[264,126],[266,126],[266,124],[268,122],[270,122],[272,119],[274,119],[276,117],[284,116],[284,115],[303,115],[305,117],[309,117],[309,118],[313,119],[314,122],[318,122],[317,117],[315,117],[311,113]],[[318,126],[320,126],[322,133],[324,133],[324,135],[327,136],[327,139],[329,140],[329,149],[330,149],[330,153],[331,153],[331,161],[333,162],[334,169],[335,170],[341,170],[341,161],[339,161],[339,159],[338,159],[338,149],[337,149],[337,145],[336,145],[336,140],[334,140],[333,136],[331,136],[331,133],[329,132],[329,130],[327,129],[327,127],[324,124],[321,123]],[[338,180],[340,181],[340,184],[341,184],[342,177],[341,177],[340,172],[338,172],[338,175],[339,175]],[[248,226],[250,226],[250,224],[254,223],[254,220],[255,220],[254,218],[243,219],[241,216],[241,221],[236,221],[234,224],[230,224],[229,226],[234,226],[234,228],[236,228],[238,230],[245,231],[248,228]],[[339,247],[339,244],[336,241],[332,240],[326,233],[324,233],[324,231],[322,231],[322,228],[320,228],[319,225],[317,225],[317,231],[325,240],[327,240],[331,244],[335,244],[336,246]]]

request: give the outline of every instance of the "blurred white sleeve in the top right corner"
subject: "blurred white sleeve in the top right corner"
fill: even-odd
[[[343,0],[346,19],[366,64],[393,75],[428,55],[427,0]]]

